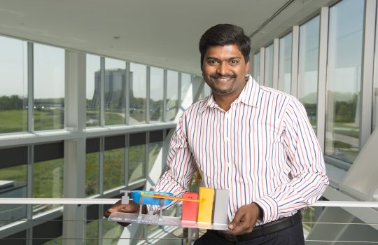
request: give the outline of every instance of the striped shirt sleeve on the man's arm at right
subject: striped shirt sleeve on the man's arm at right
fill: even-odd
[[[290,99],[282,123],[291,181],[255,201],[264,213],[263,223],[290,216],[313,204],[329,183],[323,153],[304,106],[297,99]]]

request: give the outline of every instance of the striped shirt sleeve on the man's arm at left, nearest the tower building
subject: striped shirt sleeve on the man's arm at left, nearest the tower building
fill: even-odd
[[[197,165],[188,145],[185,125],[185,113],[183,113],[169,144],[166,172],[151,190],[172,193],[174,196],[181,196],[188,190],[188,185],[197,169]],[[164,208],[171,207],[175,203],[172,202]],[[149,212],[156,213],[158,209],[158,206],[147,205]]]

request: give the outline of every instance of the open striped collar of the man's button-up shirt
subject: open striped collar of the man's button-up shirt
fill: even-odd
[[[242,102],[244,104],[247,104],[248,106],[257,107],[258,106],[258,93],[260,91],[260,85],[256,83],[255,79],[252,78],[251,75],[248,75],[248,81],[246,83],[246,86],[243,90],[241,90],[241,93],[239,94],[239,97],[235,100],[235,102],[232,103],[239,103]],[[198,110],[200,113],[202,113],[207,108],[214,108],[219,107],[218,104],[216,104],[213,94],[210,94],[209,97],[204,99],[204,104],[202,104],[202,107]]]

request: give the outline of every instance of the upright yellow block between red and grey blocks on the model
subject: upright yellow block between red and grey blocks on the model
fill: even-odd
[[[213,214],[214,189],[200,187],[200,206],[198,207],[197,222],[211,223]]]

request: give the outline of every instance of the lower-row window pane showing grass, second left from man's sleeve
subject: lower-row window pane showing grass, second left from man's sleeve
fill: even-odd
[[[129,183],[144,178],[146,169],[146,146],[129,148]]]

